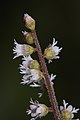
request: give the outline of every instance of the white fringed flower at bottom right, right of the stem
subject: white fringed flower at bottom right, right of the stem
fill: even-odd
[[[62,114],[62,117],[65,120],[72,120],[72,118],[74,118],[74,113],[77,113],[79,111],[78,109],[75,109],[75,107],[73,107],[72,105],[68,105],[68,103],[65,102],[65,100],[63,100],[63,106],[60,106],[60,111]],[[78,119],[75,119],[78,120]]]

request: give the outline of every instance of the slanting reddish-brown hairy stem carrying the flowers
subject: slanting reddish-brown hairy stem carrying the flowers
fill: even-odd
[[[44,57],[42,55],[41,47],[40,47],[40,44],[39,44],[39,41],[38,41],[37,34],[36,34],[35,30],[32,31],[32,36],[33,36],[33,39],[35,40],[35,45],[36,45],[36,48],[37,48],[38,57],[39,57],[39,60],[40,60],[40,63],[41,63],[41,69],[42,69],[43,75],[45,77],[45,85],[46,85],[46,88],[48,90],[48,95],[49,95],[50,102],[51,102],[51,108],[53,109],[54,118],[55,118],[55,120],[62,120],[60,111],[58,109],[58,103],[57,103],[57,100],[56,100],[54,88],[53,88],[53,86],[51,85],[51,82],[50,82],[50,76],[49,76],[49,73],[48,73],[48,70],[47,70],[47,67],[46,67],[46,64],[45,64]]]

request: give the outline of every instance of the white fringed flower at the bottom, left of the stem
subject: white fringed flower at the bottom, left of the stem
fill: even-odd
[[[33,102],[31,99],[30,101],[30,109],[26,111],[29,114],[31,114],[31,120],[35,120],[38,117],[41,118],[48,113],[48,107],[44,104],[40,104],[37,100]]]

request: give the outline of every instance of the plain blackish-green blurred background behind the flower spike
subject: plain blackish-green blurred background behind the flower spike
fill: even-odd
[[[59,105],[62,100],[80,107],[80,0],[23,0],[0,3],[0,120],[29,120],[25,111],[30,97],[50,106],[46,91],[38,98],[40,89],[20,85],[22,76],[18,65],[21,57],[13,60],[13,39],[23,43],[22,30],[26,30],[23,14],[36,20],[36,30],[42,51],[58,40],[63,47],[61,58],[48,66],[49,73],[57,75],[55,92]],[[36,55],[35,55],[36,56]],[[75,115],[80,118],[80,112]],[[42,120],[53,120],[49,113]]]

